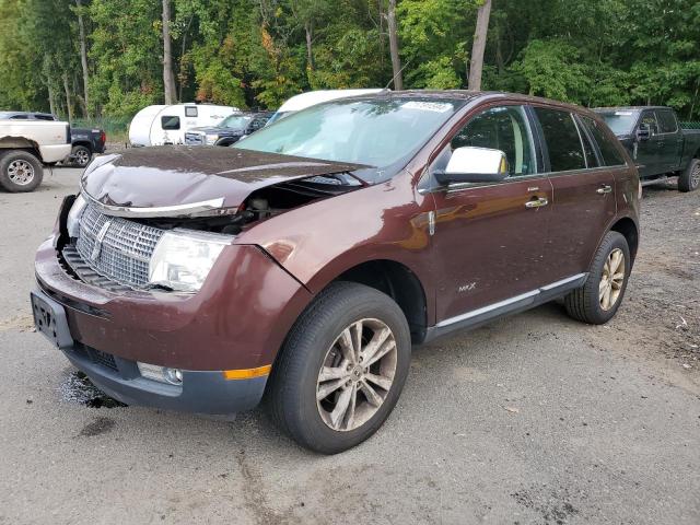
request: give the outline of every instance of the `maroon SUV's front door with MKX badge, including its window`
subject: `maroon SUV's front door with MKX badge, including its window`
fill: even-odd
[[[522,106],[489,108],[472,117],[431,168],[444,168],[459,147],[501,150],[509,177],[440,190],[433,237],[438,323],[536,290],[541,273],[552,190],[538,174]]]

